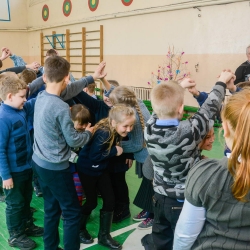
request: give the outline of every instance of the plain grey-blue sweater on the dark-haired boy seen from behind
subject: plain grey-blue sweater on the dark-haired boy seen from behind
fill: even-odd
[[[61,96],[70,99],[77,95],[92,77],[68,84]],[[42,91],[37,96],[34,115],[34,154],[32,159],[40,167],[62,170],[69,166],[71,147],[82,147],[91,133],[78,133],[71,121],[69,106],[56,95]]]

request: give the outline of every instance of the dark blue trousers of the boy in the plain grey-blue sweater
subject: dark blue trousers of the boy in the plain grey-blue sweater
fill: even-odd
[[[58,225],[63,214],[64,250],[80,249],[80,205],[70,169],[48,170],[32,161],[44,198],[44,249],[56,250],[60,239]]]

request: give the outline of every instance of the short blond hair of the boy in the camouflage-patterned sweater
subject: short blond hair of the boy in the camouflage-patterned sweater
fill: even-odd
[[[164,82],[152,89],[150,97],[159,118],[175,117],[184,102],[184,89],[175,81]]]

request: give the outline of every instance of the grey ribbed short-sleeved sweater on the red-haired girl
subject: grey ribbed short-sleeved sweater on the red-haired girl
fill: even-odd
[[[206,221],[191,249],[250,249],[250,202],[236,200],[228,159],[200,161],[189,172],[186,199],[206,209]],[[248,200],[250,194],[248,194]]]

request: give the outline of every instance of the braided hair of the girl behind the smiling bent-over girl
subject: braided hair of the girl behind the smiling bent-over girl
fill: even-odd
[[[128,105],[130,107],[134,107],[136,109],[136,112],[139,115],[142,130],[144,130],[145,124],[144,124],[143,115],[142,115],[141,109],[137,102],[136,95],[133,90],[125,86],[118,86],[109,95],[109,100],[113,103],[113,105],[116,105],[119,103],[119,104]]]

